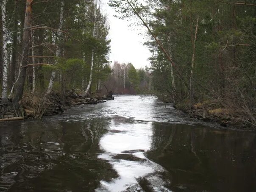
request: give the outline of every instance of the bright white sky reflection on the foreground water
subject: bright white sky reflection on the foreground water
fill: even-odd
[[[101,181],[96,191],[139,191],[139,180],[147,177],[148,186],[154,190],[169,191],[164,187],[169,181],[161,181],[156,172],[164,172],[161,165],[147,159],[144,152],[151,147],[151,123],[125,122],[125,119],[112,122],[109,133],[100,140],[104,151],[98,158],[105,159],[118,173],[111,182]],[[149,179],[150,178],[150,179]]]

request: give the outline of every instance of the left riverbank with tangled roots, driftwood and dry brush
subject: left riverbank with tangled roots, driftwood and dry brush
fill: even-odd
[[[70,106],[95,105],[112,99],[112,92],[107,95],[91,93],[85,97],[79,91],[71,90],[65,94],[52,92],[47,98],[44,95],[25,94],[19,110],[12,107],[11,100],[6,105],[0,105],[0,121],[39,119],[43,116],[61,114]]]

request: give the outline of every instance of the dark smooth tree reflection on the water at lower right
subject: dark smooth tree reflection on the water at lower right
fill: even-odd
[[[170,173],[170,189],[256,190],[255,133],[154,123],[153,135],[146,156]]]

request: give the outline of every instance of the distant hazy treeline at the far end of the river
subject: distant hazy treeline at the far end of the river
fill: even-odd
[[[152,75],[148,70],[135,69],[131,63],[114,61],[111,75],[106,81],[107,89],[114,94],[148,94],[152,90]]]

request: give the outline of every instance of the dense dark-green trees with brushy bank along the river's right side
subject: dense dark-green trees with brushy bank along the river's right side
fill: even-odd
[[[255,0],[111,0],[110,6],[147,28],[159,95],[201,118],[256,127]]]

